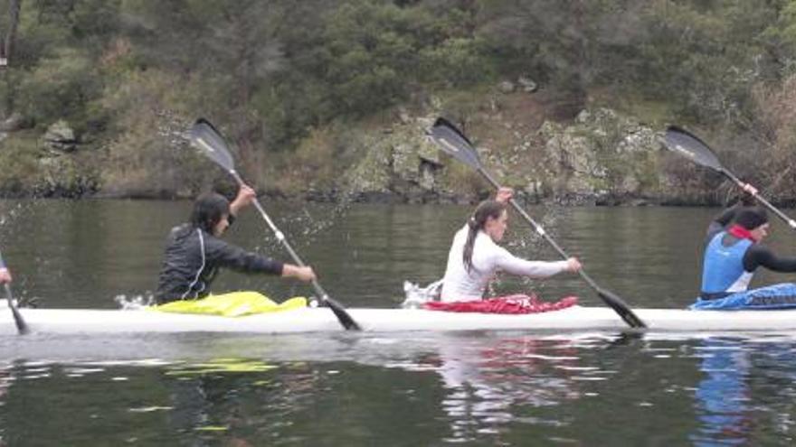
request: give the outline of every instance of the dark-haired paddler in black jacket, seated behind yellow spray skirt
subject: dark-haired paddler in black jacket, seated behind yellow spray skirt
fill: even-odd
[[[315,279],[312,267],[283,264],[224,242],[221,237],[242,208],[251,204],[255,192],[242,185],[232,203],[211,192],[194,203],[191,221],[172,228],[166,258],[160,269],[155,299],[158,304],[204,298],[220,267],[238,272]]]

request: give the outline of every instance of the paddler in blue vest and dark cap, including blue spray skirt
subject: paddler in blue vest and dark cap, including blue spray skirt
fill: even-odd
[[[796,272],[796,257],[777,256],[771,248],[761,245],[768,233],[768,215],[757,206],[739,203],[716,217],[707,233],[702,292],[691,308],[796,307],[796,284],[775,284],[746,293],[757,267]]]

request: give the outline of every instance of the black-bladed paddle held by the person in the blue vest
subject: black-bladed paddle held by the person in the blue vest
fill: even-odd
[[[772,210],[772,212],[780,219],[784,220],[788,226],[796,229],[796,220],[789,218],[785,213],[769,203],[768,200],[763,199],[763,197],[761,197],[756,190],[747,190],[747,183],[741,182],[738,177],[734,176],[733,172],[727,171],[727,169],[722,166],[722,163],[718,161],[718,158],[715,156],[713,150],[710,149],[710,146],[708,146],[704,141],[700,140],[696,135],[691,134],[687,130],[681,129],[678,126],[668,126],[668,129],[666,129],[664,142],[670,151],[683,155],[696,164],[701,164],[702,166],[706,166],[714,171],[721,172],[726,178],[730,179],[730,181],[734,182],[742,190],[751,193],[755,200],[762,203],[769,210]]]

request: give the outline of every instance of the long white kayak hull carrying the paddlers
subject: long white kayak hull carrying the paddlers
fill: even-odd
[[[4,306],[5,307],[5,306]],[[146,310],[21,309],[31,331],[108,332],[340,332],[327,308],[228,318]],[[347,309],[364,331],[624,331],[611,309],[574,306],[526,315],[434,312],[409,309]],[[796,331],[796,310],[687,311],[634,310],[649,331]],[[0,308],[0,334],[15,334],[11,312]]]

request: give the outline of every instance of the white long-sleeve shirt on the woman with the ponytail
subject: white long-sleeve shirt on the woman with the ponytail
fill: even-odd
[[[506,248],[498,246],[488,234],[479,231],[473,244],[473,268],[468,273],[463,257],[468,231],[465,225],[453,237],[442,282],[443,302],[480,300],[498,270],[512,275],[546,278],[567,269],[567,261],[527,261],[516,257]]]

